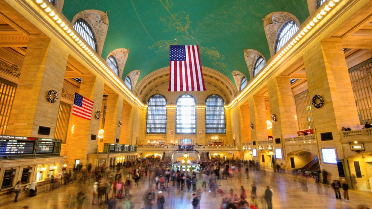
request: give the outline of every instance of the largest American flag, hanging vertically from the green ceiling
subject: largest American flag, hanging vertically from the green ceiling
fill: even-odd
[[[168,91],[206,91],[200,63],[199,46],[169,46]]]

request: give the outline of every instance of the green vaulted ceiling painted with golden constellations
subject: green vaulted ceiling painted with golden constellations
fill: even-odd
[[[169,45],[199,45],[202,66],[231,79],[231,71],[249,73],[244,49],[270,59],[263,17],[288,12],[302,23],[307,0],[65,0],[68,20],[83,11],[108,12],[109,28],[102,57],[129,49],[123,77],[140,69],[140,78],[169,66]]]

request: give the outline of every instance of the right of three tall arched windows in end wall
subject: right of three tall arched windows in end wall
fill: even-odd
[[[225,102],[212,94],[205,100],[205,134],[226,134]]]

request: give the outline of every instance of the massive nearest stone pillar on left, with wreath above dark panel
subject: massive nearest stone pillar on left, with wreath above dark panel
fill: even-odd
[[[54,138],[61,99],[50,103],[47,94],[55,90],[61,97],[68,59],[62,48],[48,38],[29,38],[6,134]],[[38,135],[39,126],[49,127],[49,135]]]

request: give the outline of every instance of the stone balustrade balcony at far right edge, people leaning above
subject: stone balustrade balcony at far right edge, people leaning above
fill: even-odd
[[[372,128],[341,131],[341,143],[358,141],[359,143],[372,142]]]

